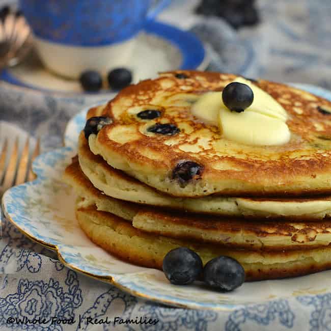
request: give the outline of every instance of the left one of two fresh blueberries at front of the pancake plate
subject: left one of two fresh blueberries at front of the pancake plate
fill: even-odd
[[[175,285],[187,285],[198,280],[203,270],[200,256],[185,247],[171,250],[163,259],[163,272]]]

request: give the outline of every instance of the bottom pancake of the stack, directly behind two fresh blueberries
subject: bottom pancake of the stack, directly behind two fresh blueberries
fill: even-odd
[[[280,279],[331,268],[331,248],[308,251],[254,252],[155,236],[135,229],[126,220],[94,208],[76,208],[81,229],[97,245],[127,262],[162,270],[163,257],[176,247],[197,252],[204,264],[216,256],[236,259],[245,269],[246,281]]]

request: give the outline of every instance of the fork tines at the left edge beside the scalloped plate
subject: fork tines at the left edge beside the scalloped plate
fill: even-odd
[[[36,178],[32,172],[32,161],[40,153],[40,140],[36,142],[30,155],[30,139],[27,137],[21,153],[19,153],[19,138],[16,137],[11,152],[8,152],[8,138],[5,139],[0,154],[0,197],[10,187],[31,181]],[[20,155],[19,155],[20,154]],[[7,161],[9,155],[9,160]]]

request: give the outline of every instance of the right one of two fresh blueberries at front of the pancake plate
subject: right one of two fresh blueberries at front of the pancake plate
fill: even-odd
[[[219,256],[205,265],[203,280],[221,291],[232,291],[245,281],[245,270],[237,260]]]

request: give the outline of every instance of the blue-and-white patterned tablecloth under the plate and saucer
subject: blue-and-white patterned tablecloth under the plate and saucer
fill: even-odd
[[[210,70],[331,89],[329,0],[260,0],[262,24],[240,34],[222,20],[206,21],[183,12],[185,4],[194,2],[176,0],[178,6],[175,4],[161,18],[192,27],[209,49]],[[185,25],[190,17],[191,24]],[[0,100],[0,119],[40,135],[43,151],[61,146],[67,121],[91,102],[64,95],[24,93],[8,86],[0,87]],[[234,311],[170,308],[68,269],[54,252],[27,238],[5,219],[2,235],[2,331],[331,331],[330,293],[271,300]],[[53,323],[52,317],[56,317]],[[33,320],[40,323],[27,323]]]

